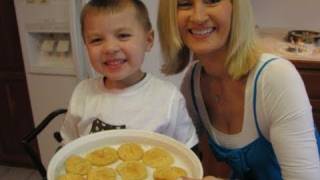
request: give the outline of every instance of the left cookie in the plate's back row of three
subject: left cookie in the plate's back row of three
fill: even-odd
[[[95,166],[106,166],[116,162],[118,154],[114,148],[104,147],[88,153],[86,159]]]

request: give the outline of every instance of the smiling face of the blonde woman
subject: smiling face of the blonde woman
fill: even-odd
[[[225,49],[231,29],[230,0],[177,0],[181,38],[195,54]]]

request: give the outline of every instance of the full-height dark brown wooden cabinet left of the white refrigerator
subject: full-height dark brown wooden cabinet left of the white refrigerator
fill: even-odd
[[[0,163],[31,166],[21,146],[33,119],[13,0],[0,1],[0,26]]]

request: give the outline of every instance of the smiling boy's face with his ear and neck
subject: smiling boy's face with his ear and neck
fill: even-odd
[[[84,39],[91,65],[107,77],[107,86],[127,87],[142,78],[140,68],[153,45],[153,31],[146,32],[133,7],[114,13],[89,11]]]

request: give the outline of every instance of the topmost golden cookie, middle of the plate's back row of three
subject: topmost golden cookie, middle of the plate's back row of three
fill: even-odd
[[[143,157],[143,149],[139,144],[126,143],[118,148],[119,158],[123,161],[138,161]]]

